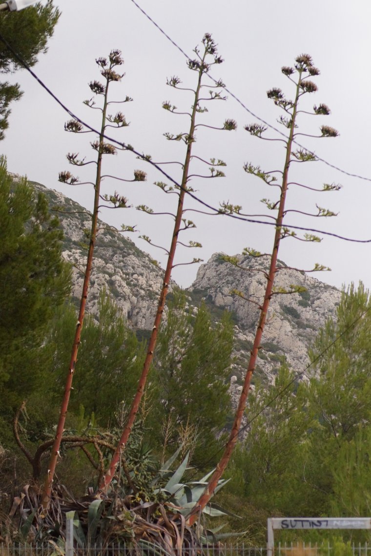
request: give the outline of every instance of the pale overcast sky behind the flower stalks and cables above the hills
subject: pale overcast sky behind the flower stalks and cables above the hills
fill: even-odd
[[[131,0],[60,0],[57,3],[62,16],[55,36],[50,41],[48,53],[41,56],[33,68],[39,78],[82,120],[98,126],[98,112],[82,105],[83,100],[92,96],[87,83],[100,78],[95,58],[107,56],[113,48],[121,49],[126,76],[121,84],[112,85],[111,99],[120,100],[129,95],[134,102],[118,106],[131,125],[117,132],[117,139],[131,143],[137,151],[150,153],[154,161],[182,161],[184,143],[168,142],[162,134],[186,132],[188,120],[165,112],[161,103],[170,100],[179,110],[189,110],[192,103],[189,93],[166,86],[166,78],[174,75],[181,77],[184,86],[194,86],[196,74],[186,68],[186,59]],[[284,128],[276,123],[281,112],[268,100],[266,90],[277,86],[290,97],[290,82],[280,68],[293,65],[298,54],[309,53],[321,75],[315,78],[319,92],[309,96],[308,106],[324,102],[332,114],[328,117],[302,116],[300,131],[315,133],[325,124],[337,128],[340,137],[320,140],[301,137],[301,143],[333,165],[371,178],[369,2],[139,0],[139,3],[190,56],[204,33],[212,33],[225,59],[213,69],[212,75],[222,78],[251,111],[282,131]],[[91,208],[90,186],[66,186],[58,183],[57,177],[59,171],[70,170],[82,181],[91,178],[89,170],[68,167],[65,155],[80,152],[80,156],[89,160],[93,157],[89,145],[92,135],[66,133],[63,125],[70,118],[26,71],[18,72],[12,79],[21,83],[24,96],[13,105],[10,127],[1,145],[1,151],[8,157],[9,171],[26,174],[31,180],[58,189]],[[219,206],[219,201],[230,200],[242,205],[243,212],[263,214],[265,209],[259,200],[263,197],[275,199],[276,189],[269,190],[258,178],[248,176],[243,165],[249,161],[266,171],[281,169],[283,143],[259,141],[244,131],[246,123],[256,120],[233,98],[226,102],[210,102],[208,107],[209,113],[200,115],[199,122],[205,120],[218,126],[225,118],[234,118],[239,127],[236,132],[199,128],[192,153],[206,159],[222,158],[227,163],[226,177],[194,180],[192,187],[200,198],[213,206]],[[115,108],[117,105],[113,105],[112,112]],[[274,131],[269,136],[278,137]],[[344,187],[334,193],[309,193],[302,188],[291,188],[288,208],[313,212],[318,203],[339,211],[339,216],[325,220],[295,217],[290,213],[286,222],[356,239],[371,238],[371,181],[346,176],[321,162],[296,166],[291,178],[315,187],[321,187],[324,182],[342,183]],[[144,203],[154,210],[174,211],[175,196],[165,196],[152,185],[156,180],[165,181],[156,170],[128,152],[105,158],[104,172],[107,174],[130,179],[135,168],[148,173],[146,183],[106,180],[103,192],[117,190],[134,206]],[[179,165],[164,167],[177,180],[180,179],[179,168]],[[199,171],[200,167],[196,166],[195,170]],[[194,202],[187,200],[186,203],[196,208]],[[186,262],[192,257],[206,261],[216,251],[233,255],[246,246],[260,251],[271,250],[273,228],[270,226],[190,212],[187,217],[194,220],[197,229],[185,232],[182,241],[200,241],[203,247],[180,250],[176,262]],[[169,216],[149,216],[128,209],[102,211],[101,218],[117,227],[122,222],[137,224],[141,234],[150,236],[154,244],[170,245],[172,220]],[[135,234],[130,237],[164,266],[162,251],[152,249]],[[358,280],[370,287],[370,252],[371,244],[354,244],[324,236],[320,245],[287,239],[281,244],[279,258],[304,270],[313,267],[314,262],[323,263],[331,267],[332,272],[316,274],[316,277],[338,287]],[[174,278],[182,286],[188,286],[196,270],[197,265],[177,267]]]

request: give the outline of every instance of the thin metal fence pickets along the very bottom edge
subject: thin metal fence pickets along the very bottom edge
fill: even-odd
[[[340,554],[341,552],[341,554]],[[371,556],[371,544],[344,544],[339,550],[330,544],[278,543],[274,547],[274,556]],[[49,541],[47,544],[0,543],[0,556],[65,556],[65,545]],[[107,546],[93,545],[85,548],[73,548],[74,556],[267,556],[267,549],[251,548],[244,544],[220,544],[202,548],[174,549],[166,552],[152,544],[110,543]]]

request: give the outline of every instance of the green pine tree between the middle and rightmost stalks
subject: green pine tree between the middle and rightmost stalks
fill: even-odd
[[[154,360],[161,408],[157,420],[165,425],[170,446],[179,442],[180,429],[194,431],[194,465],[212,465],[221,443],[217,436],[231,410],[228,388],[233,345],[233,323],[227,311],[213,325],[204,303],[193,314],[185,294],[175,292]]]

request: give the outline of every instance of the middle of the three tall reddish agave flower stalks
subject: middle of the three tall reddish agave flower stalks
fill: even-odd
[[[199,50],[196,48],[195,53],[196,53],[197,58],[194,59],[194,60],[189,60],[189,62],[188,62],[189,68],[194,70],[198,74],[197,86],[194,90],[194,102],[193,102],[193,105],[192,105],[192,110],[189,113],[189,116],[190,116],[189,131],[187,133],[180,133],[179,135],[176,135],[176,136],[171,135],[170,133],[165,133],[164,134],[165,137],[170,141],[172,141],[172,140],[173,141],[174,140],[175,141],[184,141],[185,144],[186,144],[186,155],[185,155],[185,161],[184,161],[183,168],[182,168],[181,184],[180,184],[180,188],[179,188],[179,192],[178,192],[177,210],[176,210],[176,214],[174,215],[175,216],[174,230],[172,232],[170,249],[166,250],[167,251],[167,263],[166,263],[164,281],[162,283],[159,302],[158,302],[158,305],[157,305],[157,311],[156,311],[155,320],[154,320],[154,326],[152,328],[151,337],[150,337],[149,345],[148,345],[148,348],[147,348],[146,359],[145,359],[145,362],[144,362],[144,366],[143,366],[143,369],[142,369],[140,379],[138,381],[137,391],[136,391],[135,397],[132,401],[132,405],[131,405],[131,408],[130,408],[130,413],[128,414],[126,426],[122,431],[120,441],[117,444],[115,454],[113,455],[113,457],[111,459],[111,462],[110,462],[110,465],[107,469],[107,472],[106,472],[105,476],[103,477],[103,479],[102,479],[102,481],[99,485],[99,489],[102,490],[102,491],[104,491],[108,488],[108,485],[110,485],[110,483],[113,479],[113,476],[115,475],[118,462],[120,461],[122,451],[125,449],[125,445],[126,445],[127,440],[130,436],[131,429],[132,429],[133,423],[135,421],[136,415],[138,413],[138,409],[140,407],[142,396],[144,394],[144,390],[145,390],[145,386],[146,386],[146,382],[147,382],[147,377],[149,375],[150,366],[151,366],[152,359],[153,359],[153,356],[154,356],[154,351],[155,351],[155,346],[156,346],[156,341],[157,341],[157,333],[158,333],[159,328],[160,328],[162,314],[164,313],[166,295],[167,295],[167,292],[169,291],[171,272],[172,272],[172,269],[175,266],[174,265],[174,259],[175,259],[176,248],[177,248],[177,245],[179,244],[180,231],[182,229],[187,229],[187,227],[194,227],[194,224],[192,222],[185,222],[183,215],[184,215],[184,198],[185,198],[187,187],[188,187],[187,182],[189,181],[189,178],[190,178],[189,171],[190,171],[190,162],[191,162],[191,158],[192,158],[192,156],[191,156],[192,145],[195,142],[195,129],[197,127],[196,115],[197,115],[197,112],[204,111],[204,109],[202,109],[199,105],[200,92],[201,92],[201,88],[202,88],[202,77],[205,75],[205,73],[209,72],[210,66],[212,66],[213,64],[219,64],[219,63],[222,62],[222,59],[217,56],[216,44],[215,44],[214,40],[211,38],[211,35],[208,34],[208,33],[205,34],[204,38],[202,39],[202,42],[204,44],[204,52],[203,52],[202,56],[200,55]],[[212,61],[210,63],[207,63],[206,59],[209,56],[212,57]],[[175,88],[181,88],[181,87],[177,87],[179,85],[179,83],[180,83],[180,80],[177,77],[172,77],[170,80],[168,80],[168,85],[170,85],[172,87],[175,87]],[[212,93],[210,93],[210,96],[211,96],[211,98],[209,98],[208,100],[214,100],[214,98],[221,98],[219,92],[212,92]],[[175,112],[175,108],[176,108],[175,106],[171,106],[170,102],[164,102],[162,104],[162,107],[165,108],[165,110],[169,110],[170,112]],[[224,125],[224,127],[222,127],[221,129],[226,129],[226,130],[235,129],[236,125],[235,125],[234,121],[231,120],[231,121],[228,121],[228,123],[229,123],[228,126]],[[145,160],[146,157],[144,156],[143,158]],[[157,184],[157,185],[160,185],[160,187],[163,188],[163,190],[165,190],[165,192],[166,192],[166,187],[163,183],[160,183],[160,184]],[[148,208],[145,207],[145,206],[141,206],[141,207],[138,207],[138,208],[140,210],[145,210],[146,212],[150,212],[148,210]],[[184,224],[183,228],[181,227],[182,223]],[[144,239],[146,239],[147,241],[150,241],[149,238],[147,238],[146,236],[144,236]],[[191,245],[191,246],[193,246],[193,245]],[[199,246],[199,244],[197,244],[195,246]]]

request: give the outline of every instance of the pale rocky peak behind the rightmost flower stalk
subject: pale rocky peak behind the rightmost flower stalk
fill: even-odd
[[[269,257],[237,257],[239,264],[246,270],[224,261],[221,254],[212,255],[206,264],[200,266],[190,291],[204,292],[205,299],[233,312],[236,321],[236,355],[239,360],[234,374],[241,378],[253,344],[259,307],[231,291],[239,290],[244,297],[261,303],[266,284],[263,272],[268,270]],[[289,269],[283,262],[279,266],[276,290],[290,290],[290,286],[295,285],[305,287],[306,291],[300,294],[276,294],[271,299],[256,369],[256,375],[260,374],[268,382],[274,380],[283,358],[295,371],[303,371],[303,379],[311,374],[310,368],[306,369],[309,363],[308,346],[325,320],[328,317],[335,318],[341,296],[340,291],[333,286],[304,272]],[[235,381],[234,389],[238,388],[236,384],[240,381]]]

